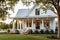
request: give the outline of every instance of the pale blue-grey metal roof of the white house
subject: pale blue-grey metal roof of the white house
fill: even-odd
[[[49,18],[49,17],[57,17],[56,14],[52,10],[47,10],[44,13],[43,9],[40,9],[40,15],[35,15],[35,6],[31,9],[19,9],[16,16],[12,18]],[[32,15],[30,15],[32,14]]]

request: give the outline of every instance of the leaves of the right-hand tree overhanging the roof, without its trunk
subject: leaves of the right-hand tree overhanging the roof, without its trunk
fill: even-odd
[[[30,0],[23,1],[23,0],[21,0],[21,1],[22,1],[23,4],[25,3],[25,5],[29,5],[31,2],[33,2],[34,5],[38,5],[38,6],[40,5],[39,9],[43,9],[43,11],[45,11],[45,12],[48,9],[52,10],[53,12],[55,12],[54,11],[54,6],[50,3],[51,0],[35,0],[35,1],[30,1]]]

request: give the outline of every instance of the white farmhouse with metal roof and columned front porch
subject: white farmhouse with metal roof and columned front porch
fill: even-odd
[[[31,9],[19,9],[13,19],[12,30],[19,30],[21,32],[31,29],[35,30],[53,30],[56,28],[56,14],[52,10],[47,10],[46,13],[38,6],[33,6]]]

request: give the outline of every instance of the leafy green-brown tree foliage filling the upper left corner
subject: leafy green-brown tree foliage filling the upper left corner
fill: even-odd
[[[0,0],[0,19],[5,20],[7,15],[9,13],[7,10],[12,10],[14,5],[18,2],[19,0]],[[8,7],[8,6],[9,7]]]

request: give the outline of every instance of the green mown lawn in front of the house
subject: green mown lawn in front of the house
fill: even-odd
[[[0,40],[52,40],[47,38],[47,34],[30,34],[30,35],[22,35],[22,34],[0,34]],[[55,39],[53,39],[55,40]],[[57,39],[56,39],[57,40]]]

